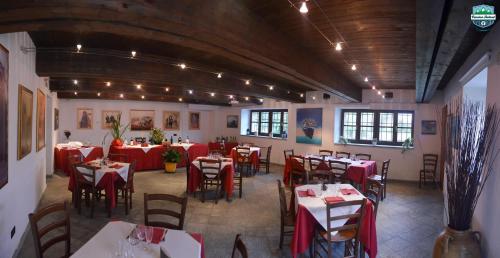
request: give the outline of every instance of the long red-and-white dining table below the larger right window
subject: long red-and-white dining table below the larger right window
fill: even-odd
[[[352,182],[359,184],[361,186],[362,191],[366,190],[366,181],[367,179],[377,174],[377,163],[373,160],[353,160],[348,158],[336,158],[334,156],[319,156],[313,154],[306,154],[302,157],[305,158],[305,166],[302,166],[298,159],[296,158],[288,158],[285,161],[285,168],[283,170],[283,182],[285,184],[290,183],[291,172],[293,169],[297,169],[299,171],[309,171],[309,157],[319,158],[323,160],[323,167],[329,166],[329,161],[340,161],[347,163],[347,171],[345,177]]]

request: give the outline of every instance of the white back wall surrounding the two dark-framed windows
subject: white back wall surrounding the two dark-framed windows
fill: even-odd
[[[418,171],[421,169],[422,154],[436,153],[440,154],[440,130],[437,135],[421,135],[421,120],[437,120],[440,124],[441,107],[440,101],[431,104],[416,104],[415,91],[413,90],[395,90],[395,99],[383,100],[380,96],[374,94],[371,90],[363,92],[363,99],[367,100],[362,104],[342,104],[336,99],[329,101],[320,100],[322,93],[311,92],[306,96],[307,104],[292,104],[289,102],[279,102],[265,100],[262,106],[253,108],[283,108],[288,109],[289,114],[289,132],[288,139],[269,139],[252,136],[240,136],[240,129],[226,128],[227,115],[240,115],[242,108],[225,108],[220,110],[215,117],[214,130],[216,136],[237,136],[239,142],[252,142],[259,146],[272,145],[271,162],[283,164],[283,150],[294,149],[296,153],[317,153],[319,149],[346,150],[351,153],[370,153],[372,159],[378,164],[382,164],[385,159],[391,159],[390,175],[391,179],[400,180],[418,180]],[[316,96],[316,101],[312,101],[312,96]],[[414,104],[406,104],[414,103]],[[298,144],[295,142],[296,128],[296,109],[298,108],[323,108],[323,132],[322,145]],[[245,107],[252,108],[252,107]],[[336,108],[367,108],[367,109],[397,109],[415,111],[415,148],[401,153],[401,148],[375,147],[375,146],[343,146],[334,144],[334,121]],[[241,117],[240,117],[241,118]],[[241,126],[241,121],[240,121]],[[245,129],[245,128],[243,128]],[[380,168],[379,168],[380,169]]]

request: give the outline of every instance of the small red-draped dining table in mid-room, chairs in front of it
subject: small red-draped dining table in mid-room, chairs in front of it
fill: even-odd
[[[213,158],[210,156],[200,156],[191,162],[189,169],[188,192],[194,193],[201,187],[203,181],[203,173],[200,169],[200,160],[221,161],[221,177],[223,180],[223,188],[226,193],[226,199],[229,201],[233,196],[234,189],[234,165],[232,158]],[[217,166],[217,164],[206,164],[206,166]]]

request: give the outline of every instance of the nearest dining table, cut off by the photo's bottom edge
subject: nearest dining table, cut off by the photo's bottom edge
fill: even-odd
[[[154,228],[161,231],[157,243],[147,244],[143,240],[129,241],[138,225],[125,221],[108,222],[97,234],[86,242],[72,258],[87,257],[132,257],[160,258],[163,251],[170,258],[204,258],[204,240],[198,233],[183,230]],[[126,246],[127,248],[124,248]],[[124,251],[126,250],[126,251]]]

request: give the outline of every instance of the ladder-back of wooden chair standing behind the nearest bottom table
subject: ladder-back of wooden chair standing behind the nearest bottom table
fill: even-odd
[[[160,208],[150,208],[149,202],[152,201],[160,201],[162,205],[158,205],[162,207]],[[169,207],[166,203],[174,203],[180,205],[180,212],[174,209],[165,209],[164,207]],[[186,207],[187,207],[187,197],[178,197],[170,194],[147,194],[144,193],[144,224],[146,226],[153,227],[163,227],[168,229],[176,229],[183,230],[184,228],[184,218],[186,216]],[[149,216],[158,216],[163,215],[167,217],[172,217],[179,220],[178,224],[172,224],[170,222],[164,221],[151,221]]]

